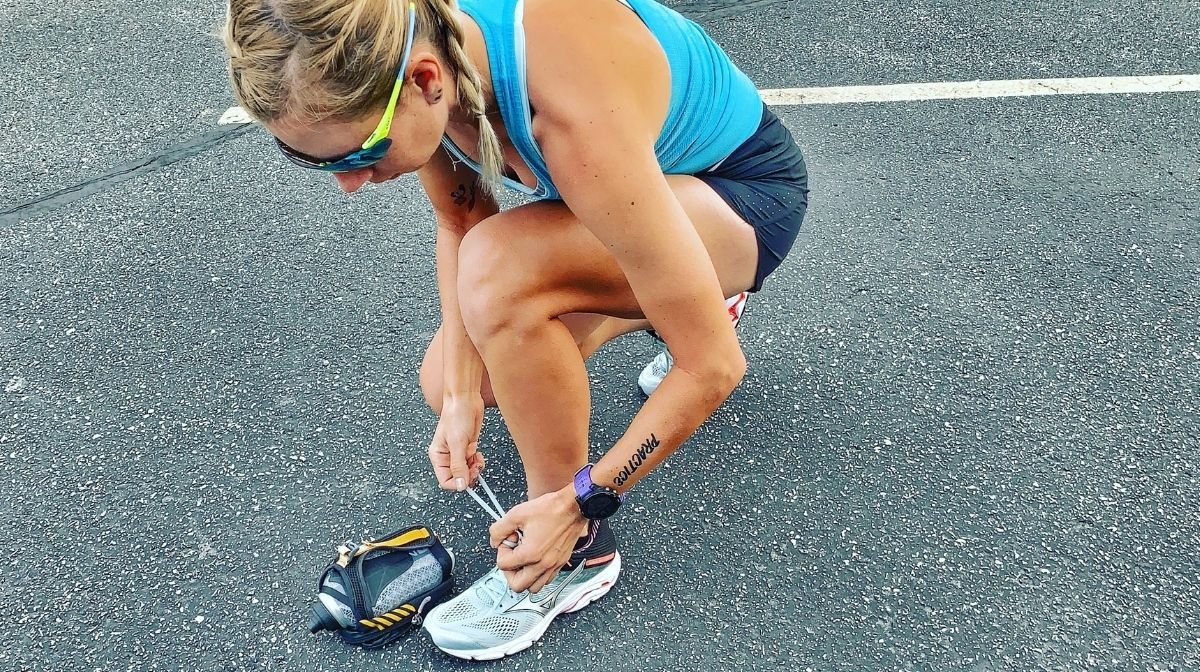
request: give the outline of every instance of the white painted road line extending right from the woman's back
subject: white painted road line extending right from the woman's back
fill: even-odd
[[[886,84],[881,86],[763,89],[760,94],[762,94],[762,100],[767,104],[838,104],[950,98],[1075,96],[1086,94],[1164,94],[1169,91],[1200,91],[1200,74],[997,79],[991,82]]]

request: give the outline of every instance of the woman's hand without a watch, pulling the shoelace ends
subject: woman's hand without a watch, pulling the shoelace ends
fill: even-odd
[[[474,487],[484,470],[479,451],[479,430],[484,425],[484,400],[446,400],[430,443],[433,475],[443,490],[463,491]]]

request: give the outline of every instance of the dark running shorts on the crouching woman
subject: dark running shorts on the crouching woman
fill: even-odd
[[[750,290],[758,292],[792,248],[809,208],[809,172],[800,148],[764,104],[754,136],[696,178],[754,227],[758,269]]]

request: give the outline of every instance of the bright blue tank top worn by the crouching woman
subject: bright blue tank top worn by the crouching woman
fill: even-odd
[[[754,134],[762,121],[762,98],[754,83],[695,23],[654,0],[613,0],[628,5],[658,38],[671,67],[671,103],[654,154],[667,174],[695,174],[720,163]],[[484,32],[492,88],[509,140],[538,178],[538,187],[504,178],[514,191],[540,199],[560,198],[541,148],[533,138],[526,79],[523,0],[460,0]],[[449,137],[443,146],[480,172]]]

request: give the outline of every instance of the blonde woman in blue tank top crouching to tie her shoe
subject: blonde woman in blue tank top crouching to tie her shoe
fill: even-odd
[[[230,0],[226,42],[239,101],[293,162],[347,192],[416,172],[428,193],[433,470],[476,481],[497,404],[529,499],[492,526],[497,569],[426,629],[462,658],[526,648],[608,590],[607,517],[740,380],[725,298],[791,248],[800,152],[720,48],[652,0]],[[502,185],[533,203],[502,212]],[[653,396],[589,464],[584,359],[652,326],[673,366],[643,372]]]

